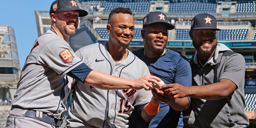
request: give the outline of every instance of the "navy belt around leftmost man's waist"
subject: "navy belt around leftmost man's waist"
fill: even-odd
[[[35,118],[36,112],[27,110],[25,113],[26,117]],[[51,124],[52,126],[60,126],[62,124],[62,120],[58,120],[56,118],[51,118],[50,116],[42,115],[42,122],[46,122],[48,124]]]

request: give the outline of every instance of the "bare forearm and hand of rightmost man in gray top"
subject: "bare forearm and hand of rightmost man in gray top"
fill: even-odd
[[[160,89],[164,90],[163,92],[158,91],[160,94],[166,93],[172,98],[183,98],[190,96],[192,98],[200,98],[205,100],[218,100],[226,98],[228,95],[230,95],[236,89],[236,84],[234,84],[231,80],[221,79],[219,82],[204,86],[167,84],[160,87]]]

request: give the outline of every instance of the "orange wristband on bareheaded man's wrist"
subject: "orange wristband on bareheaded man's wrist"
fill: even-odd
[[[148,116],[155,116],[159,111],[159,105],[160,102],[153,103],[152,101],[150,101],[148,104],[145,105],[144,110],[146,114],[148,114]]]

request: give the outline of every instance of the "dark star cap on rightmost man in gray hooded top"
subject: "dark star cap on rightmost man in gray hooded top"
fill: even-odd
[[[207,13],[197,14],[191,21],[190,29],[215,29],[220,31],[220,29],[217,28],[216,18]]]

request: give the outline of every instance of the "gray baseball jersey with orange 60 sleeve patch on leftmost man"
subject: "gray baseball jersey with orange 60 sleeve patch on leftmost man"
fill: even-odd
[[[82,61],[69,44],[48,30],[36,40],[28,55],[12,107],[38,110],[60,119],[66,111],[71,85],[65,74],[79,64]]]

